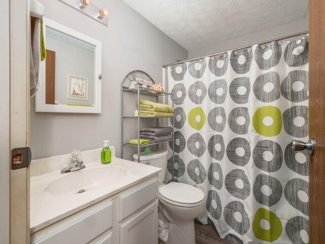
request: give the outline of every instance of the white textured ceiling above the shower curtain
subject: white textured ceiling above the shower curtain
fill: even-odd
[[[123,0],[187,50],[305,17],[308,0]]]

